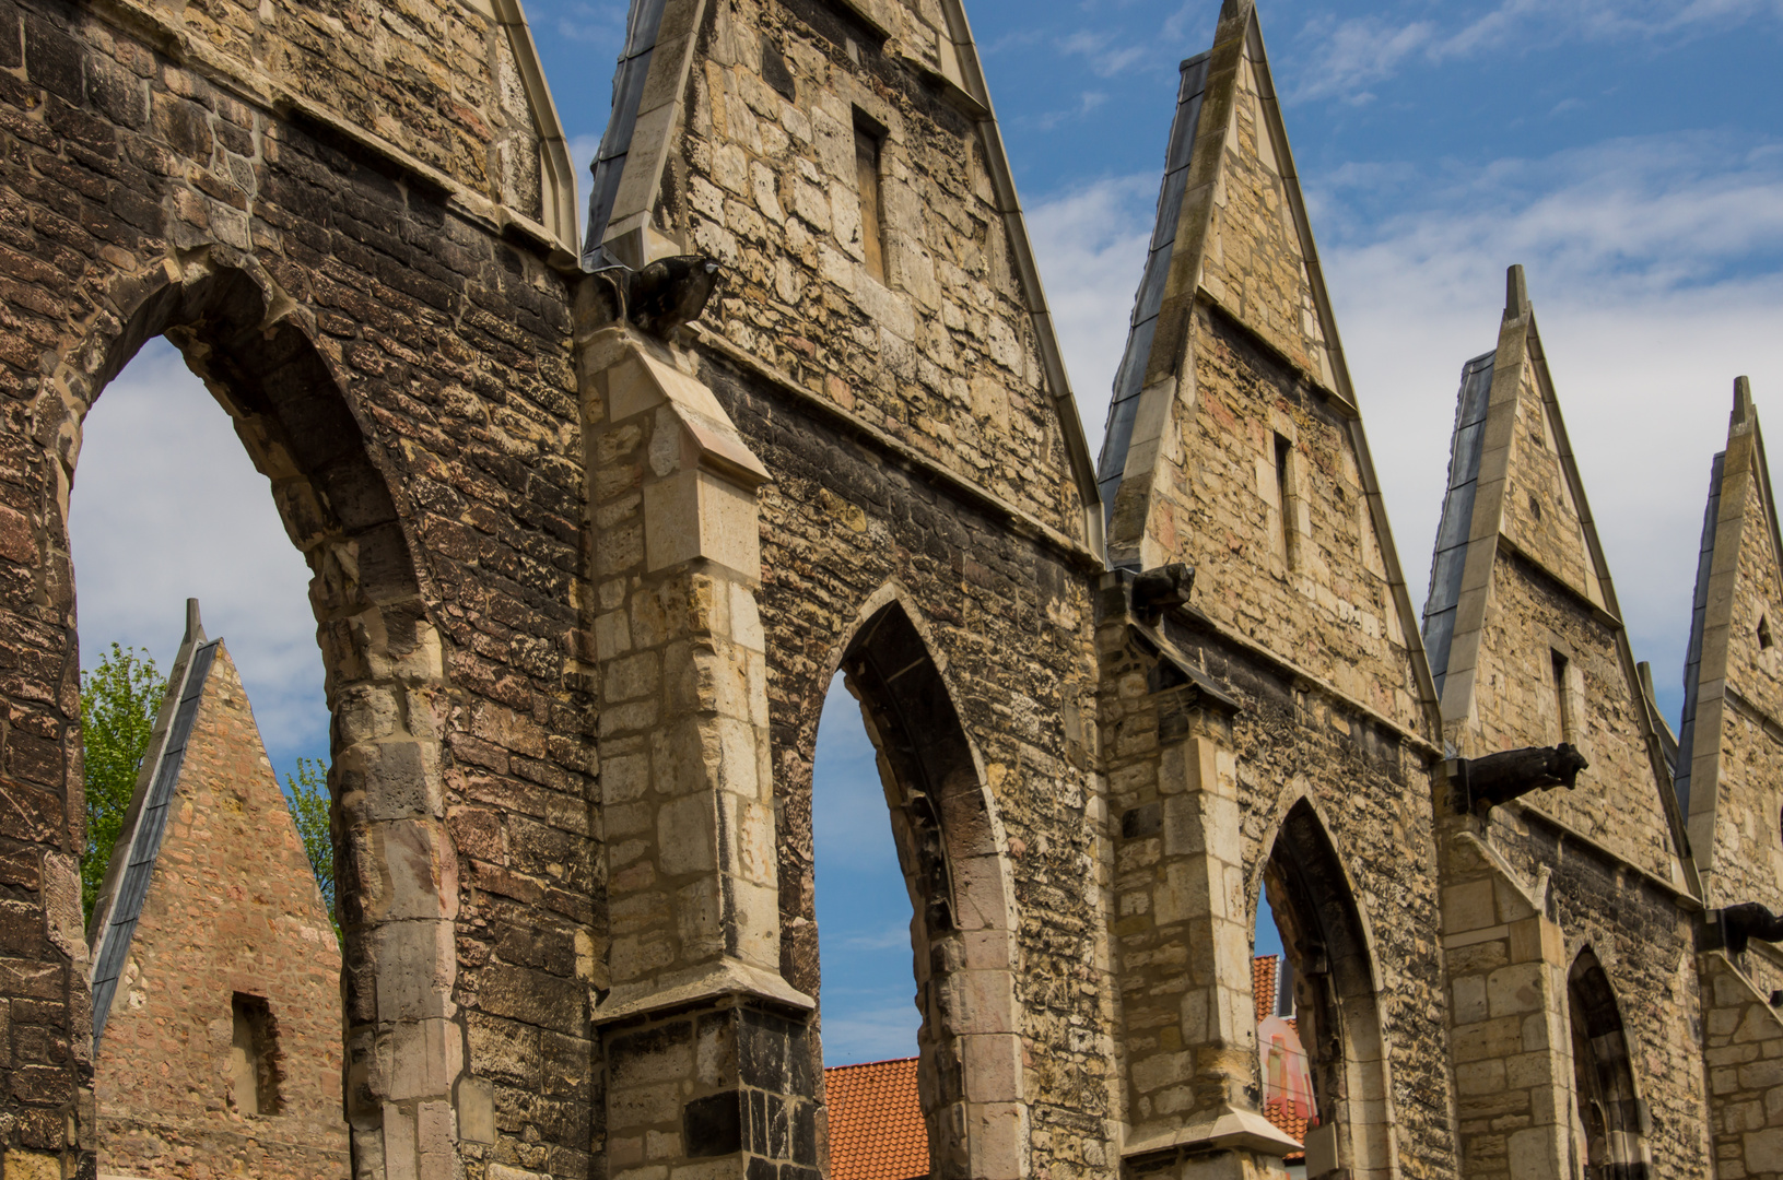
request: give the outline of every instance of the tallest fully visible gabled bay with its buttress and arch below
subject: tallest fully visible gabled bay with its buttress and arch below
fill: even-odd
[[[1311,1021],[1309,1171],[1446,1175],[1442,1071],[1385,1053],[1444,1043],[1412,1016],[1439,1011],[1434,888],[1385,884],[1430,848],[1435,695],[1246,2],[1182,64],[1098,476],[1125,1164],[1293,1150],[1257,1107],[1268,891]]]

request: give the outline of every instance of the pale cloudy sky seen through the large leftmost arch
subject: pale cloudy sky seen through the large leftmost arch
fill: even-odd
[[[228,414],[166,340],[143,348],[87,415],[70,535],[82,668],[119,642],[168,672],[196,597],[275,765],[328,756],[310,570]]]

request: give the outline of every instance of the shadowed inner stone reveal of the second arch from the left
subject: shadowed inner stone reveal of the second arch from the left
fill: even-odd
[[[943,668],[881,594],[840,668],[859,701],[915,920],[918,1091],[936,1180],[1022,1175],[1015,905],[1000,825]]]

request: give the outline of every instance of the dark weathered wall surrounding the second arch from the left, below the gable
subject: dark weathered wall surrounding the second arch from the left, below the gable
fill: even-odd
[[[1016,535],[1007,517],[902,462],[884,437],[809,410],[790,380],[722,356],[708,356],[703,378],[774,472],[761,488],[760,602],[788,982],[822,1000],[811,859],[818,715],[868,601],[895,585],[933,629],[933,654],[1006,832],[1016,939],[974,936],[981,959],[965,966],[1022,964],[1015,1030],[1025,1046],[1029,1166],[1107,1175],[1118,1114],[1111,987],[1089,886],[1100,806],[1084,554]],[[947,966],[961,964],[936,970]]]

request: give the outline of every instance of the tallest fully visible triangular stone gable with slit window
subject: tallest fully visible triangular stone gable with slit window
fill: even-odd
[[[1182,64],[1157,230],[1098,469],[1109,561],[1196,567],[1196,604],[1435,734],[1368,438],[1257,12]]]

